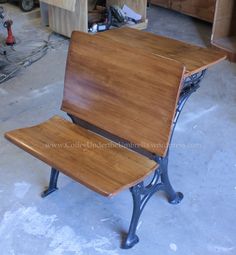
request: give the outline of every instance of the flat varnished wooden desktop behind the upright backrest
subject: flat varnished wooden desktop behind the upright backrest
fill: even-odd
[[[145,50],[152,55],[160,55],[179,61],[186,67],[185,77],[202,71],[226,58],[224,53],[216,49],[203,48],[132,28],[112,29],[96,36],[124,43],[134,49]]]

